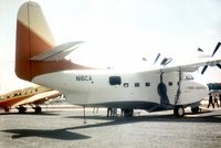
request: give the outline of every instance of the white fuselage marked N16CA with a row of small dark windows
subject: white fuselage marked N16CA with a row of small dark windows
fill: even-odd
[[[206,85],[186,74],[181,77],[177,105],[199,103],[208,95]],[[160,104],[160,72],[63,71],[36,76],[32,82],[61,91],[75,105],[150,109],[152,105]],[[169,104],[175,105],[179,73],[162,74],[162,82],[167,87]]]

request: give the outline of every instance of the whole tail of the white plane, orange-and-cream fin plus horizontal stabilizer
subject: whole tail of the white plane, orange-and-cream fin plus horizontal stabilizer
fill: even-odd
[[[17,76],[32,81],[41,74],[86,68],[64,59],[71,52],[67,49],[77,43],[80,42],[54,46],[55,42],[41,7],[36,2],[25,2],[19,9],[17,19]]]

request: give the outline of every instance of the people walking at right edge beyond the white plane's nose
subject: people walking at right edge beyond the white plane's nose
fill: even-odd
[[[218,102],[220,102],[220,104]],[[217,107],[221,106],[221,93],[210,93],[209,94],[208,108],[210,107],[210,105],[212,105],[213,108],[215,107],[215,105],[217,105]]]

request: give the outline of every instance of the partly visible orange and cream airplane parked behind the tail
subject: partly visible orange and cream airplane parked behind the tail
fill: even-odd
[[[42,112],[40,104],[60,95],[60,92],[42,86],[11,91],[0,94],[0,108],[8,113],[12,107],[15,107],[19,113],[23,114],[27,110],[24,105],[30,105],[39,114]]]

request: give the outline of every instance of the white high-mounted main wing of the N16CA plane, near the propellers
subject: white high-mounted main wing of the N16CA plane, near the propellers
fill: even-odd
[[[212,59],[207,59],[204,61],[199,61],[196,63],[188,63],[188,64],[176,65],[176,66],[165,66],[165,67],[160,67],[160,68],[154,70],[154,71],[157,71],[157,72],[158,71],[160,71],[160,72],[172,72],[172,71],[194,72],[200,66],[204,66],[202,70],[202,74],[207,70],[208,66],[218,66],[219,68],[221,68],[221,60],[212,57]]]

